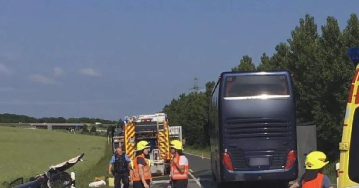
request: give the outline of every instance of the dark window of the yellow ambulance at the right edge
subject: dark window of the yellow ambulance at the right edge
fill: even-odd
[[[359,183],[359,110],[355,109],[353,126],[351,128],[350,150],[349,150],[349,178]]]

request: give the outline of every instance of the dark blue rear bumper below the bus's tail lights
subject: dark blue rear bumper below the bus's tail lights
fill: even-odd
[[[256,171],[228,171],[224,170],[224,182],[237,181],[255,181],[255,180],[283,180],[291,181],[298,177],[297,169],[291,168],[289,170],[275,169],[275,170],[256,170]]]

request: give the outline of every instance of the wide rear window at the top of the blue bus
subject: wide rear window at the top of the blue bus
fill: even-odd
[[[224,97],[289,95],[284,75],[229,76],[225,80]]]

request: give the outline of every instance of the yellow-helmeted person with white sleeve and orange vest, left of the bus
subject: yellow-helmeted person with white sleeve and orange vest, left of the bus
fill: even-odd
[[[183,154],[183,145],[179,140],[173,140],[169,144],[173,158],[171,160],[170,168],[170,184],[172,188],[186,188],[188,185],[188,159]]]

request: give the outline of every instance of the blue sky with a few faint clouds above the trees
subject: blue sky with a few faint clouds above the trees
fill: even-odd
[[[99,117],[160,111],[243,55],[257,65],[299,18],[343,29],[359,1],[0,1],[0,113]]]

